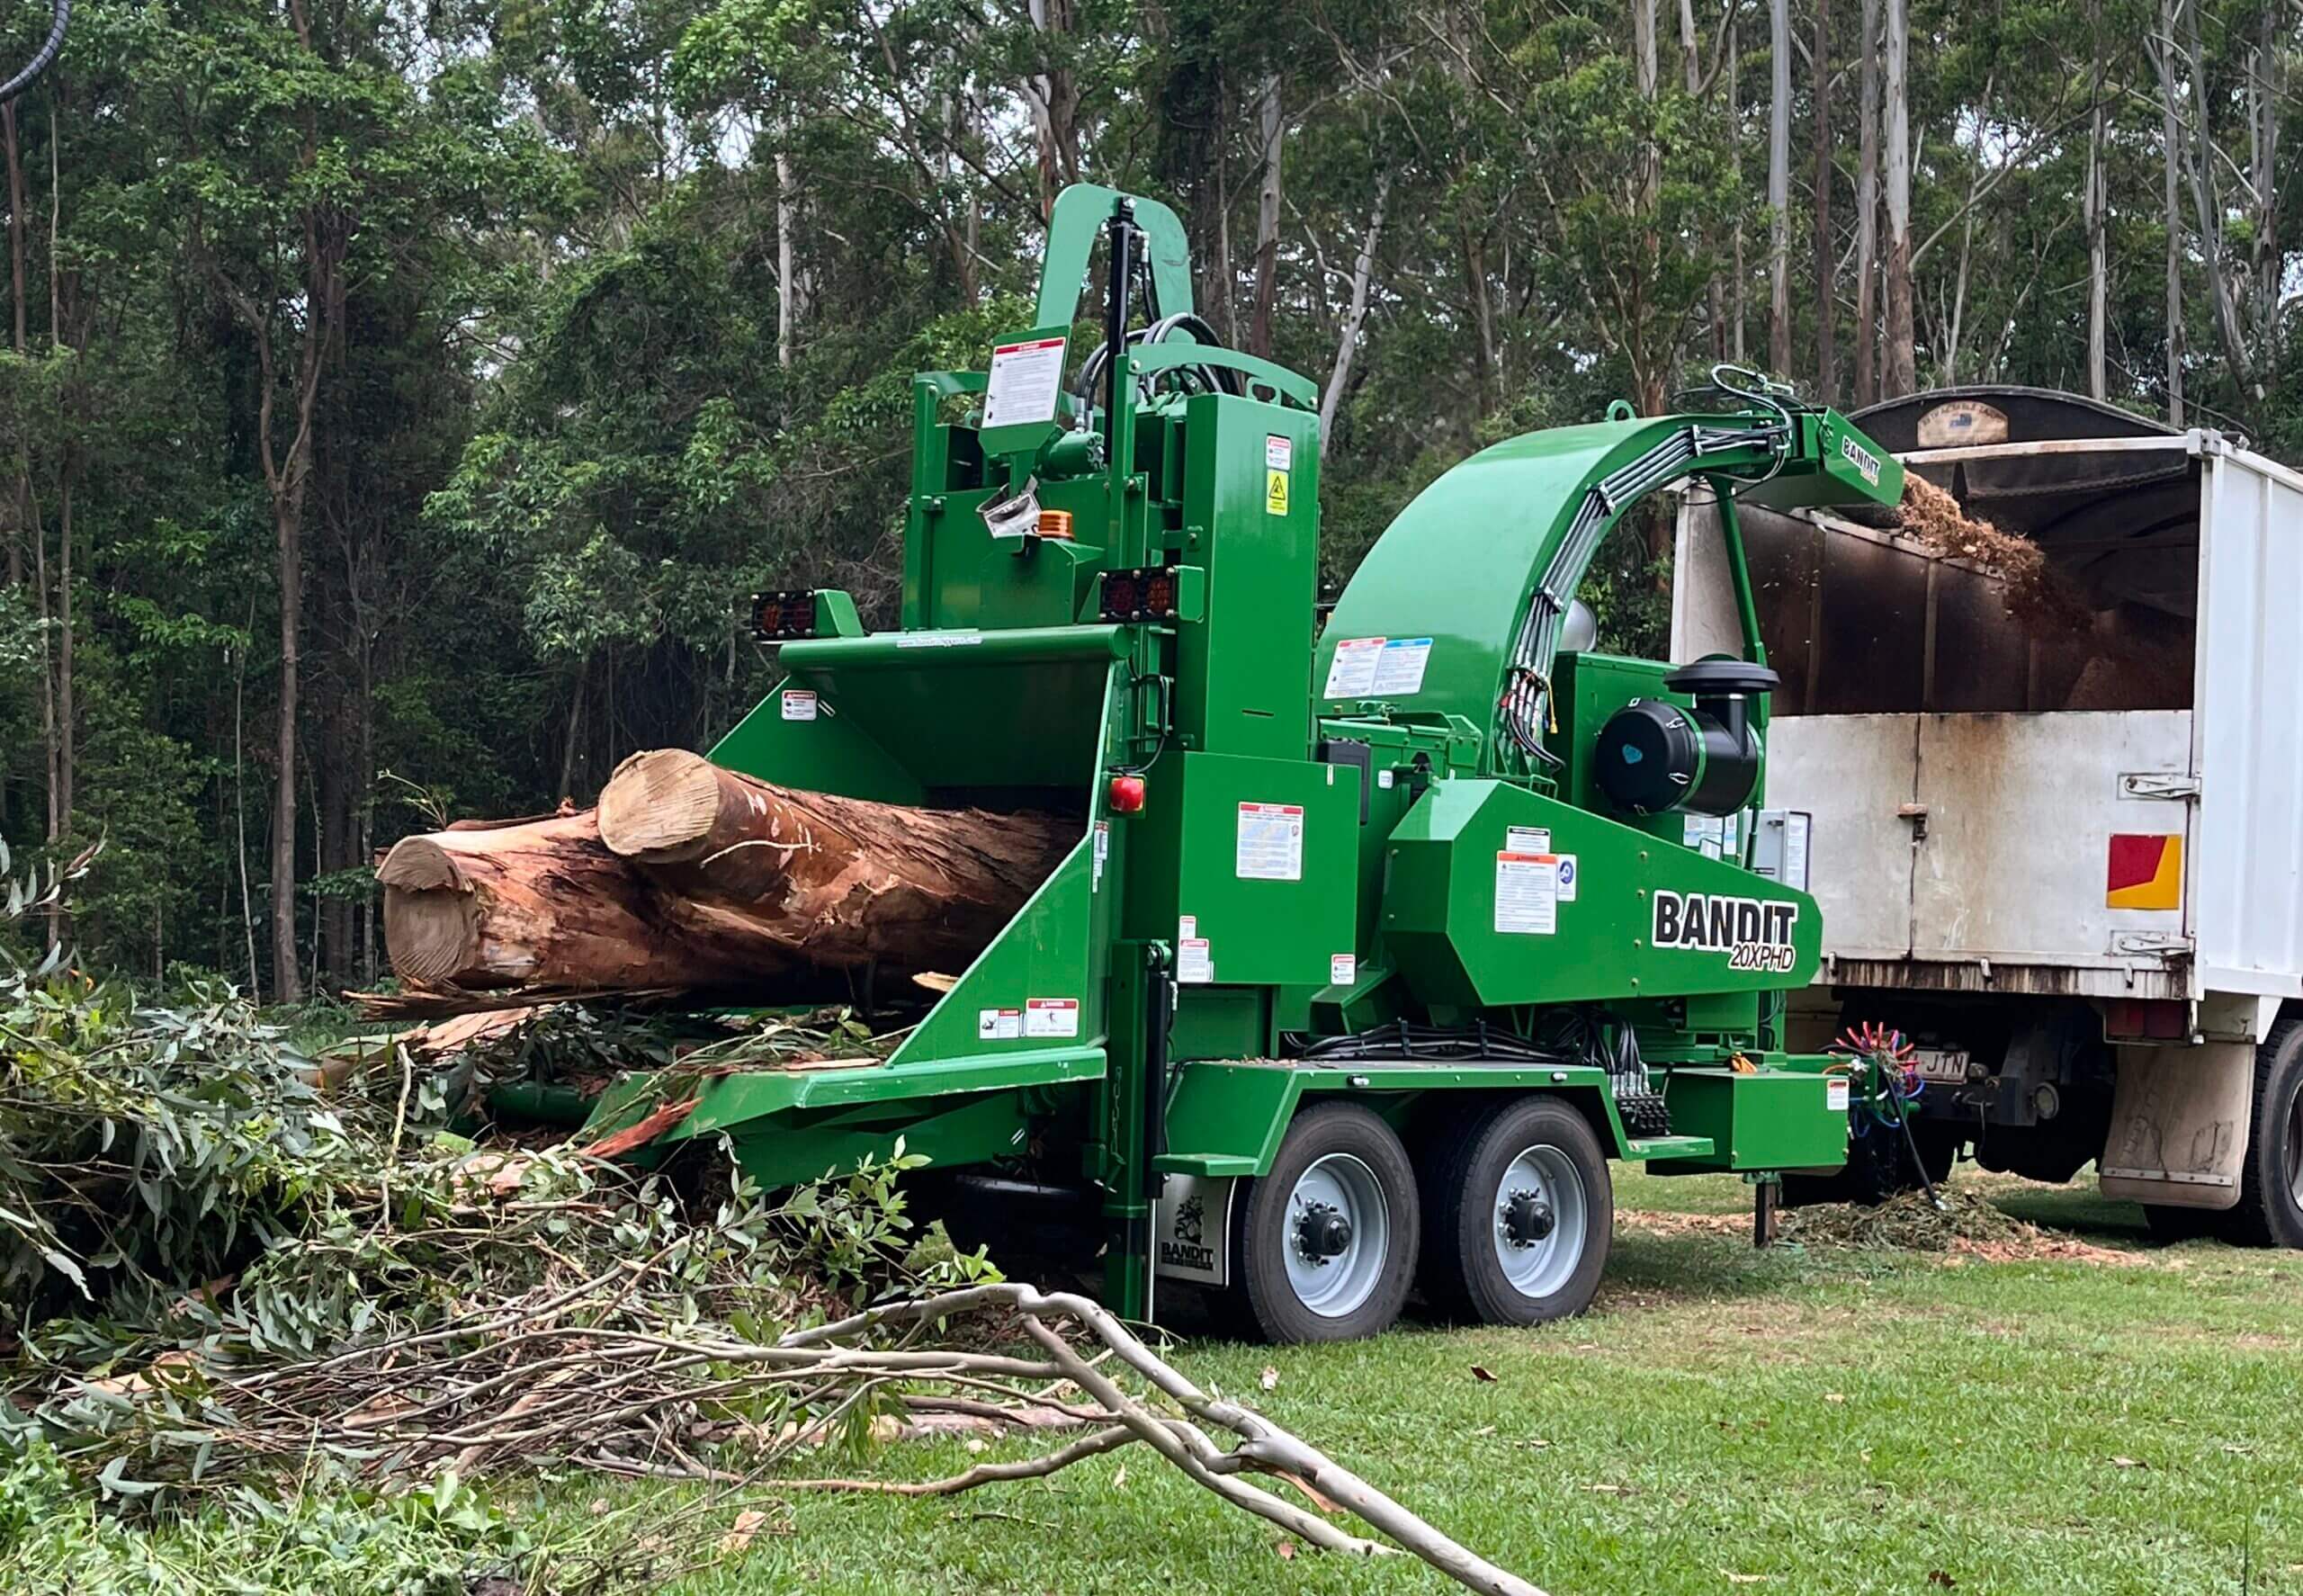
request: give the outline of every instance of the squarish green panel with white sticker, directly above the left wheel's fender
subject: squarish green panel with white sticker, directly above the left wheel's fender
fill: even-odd
[[[1253,875],[1241,857],[1244,806],[1299,806],[1297,880]],[[1181,940],[1188,917],[1223,986],[1327,986],[1354,951],[1359,910],[1359,772],[1306,760],[1170,753],[1149,772],[1128,848],[1131,937]],[[1241,873],[1251,871],[1251,873]],[[1181,949],[1179,949],[1181,951]],[[1188,970],[1177,972],[1188,979]]]

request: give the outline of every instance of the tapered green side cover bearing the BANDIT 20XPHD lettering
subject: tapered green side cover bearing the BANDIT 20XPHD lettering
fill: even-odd
[[[1575,896],[1555,900],[1550,933],[1497,930],[1504,871],[1497,854],[1525,852],[1511,845],[1511,827],[1548,831],[1550,854],[1575,861]],[[1504,781],[1435,783],[1391,834],[1389,854],[1384,942],[1430,1004],[1783,990],[1812,981],[1822,958],[1822,914],[1808,894]],[[1743,926],[1730,924],[1727,947],[1656,947],[1658,894],[1670,894],[1679,921],[1695,894],[1707,928],[1713,898],[1727,910],[1789,905],[1794,914],[1780,949],[1787,967],[1736,967],[1753,956],[1753,944],[1771,947],[1769,937],[1783,930],[1780,914],[1750,940]]]

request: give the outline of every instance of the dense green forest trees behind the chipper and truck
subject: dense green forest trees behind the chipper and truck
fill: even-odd
[[[92,965],[373,979],[378,845],[709,739],[751,587],[887,617],[903,380],[1023,320],[1073,177],[1170,198],[1216,327],[1333,382],[1329,578],[1479,442],[1713,357],[1895,382],[1863,7],[1789,0],[1778,329],[1769,7],[1644,2],[1647,60],[1624,0],[85,0],[0,129],[0,834],[108,838]],[[2186,419],[2303,444],[2291,9],[1909,25],[1914,380],[2087,387],[2093,161],[2105,392],[2167,408],[2172,230]],[[1635,534],[1598,580],[1654,640]]]

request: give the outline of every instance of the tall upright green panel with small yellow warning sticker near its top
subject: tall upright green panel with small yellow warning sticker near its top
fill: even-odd
[[[1320,417],[1200,394],[1184,410],[1184,440],[1181,560],[1207,567],[1207,620],[1177,636],[1184,746],[1301,760],[1310,748]],[[1283,514],[1274,484],[1285,484]]]

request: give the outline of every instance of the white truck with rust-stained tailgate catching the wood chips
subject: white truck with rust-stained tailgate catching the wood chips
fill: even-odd
[[[1769,801],[1824,914],[1794,1009],[1914,1036],[1932,1158],[2229,1209],[2252,1142],[2296,1207],[2303,1126],[2250,1099],[2303,997],[2303,477],[2034,389],[1856,419],[2006,537],[1741,511]],[[1674,659],[1739,647],[1713,527],[1688,493]]]

